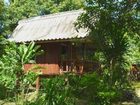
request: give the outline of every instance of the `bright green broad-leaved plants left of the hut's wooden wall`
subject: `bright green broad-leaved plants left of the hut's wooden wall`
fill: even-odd
[[[34,42],[28,45],[7,44],[5,54],[0,58],[0,85],[14,91],[16,95],[19,92],[23,94],[28,92],[37,74],[33,71],[25,72],[24,64],[29,63],[35,55],[40,53],[38,49]]]

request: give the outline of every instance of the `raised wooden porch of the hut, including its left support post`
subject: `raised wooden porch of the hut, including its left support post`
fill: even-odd
[[[91,72],[99,68],[99,64],[93,61],[95,48],[87,42],[48,42],[38,43],[44,53],[37,56],[36,64],[26,64],[25,70],[28,71],[34,66],[41,69],[37,79],[36,89],[40,87],[40,79],[49,76],[60,75],[67,72],[82,74]]]

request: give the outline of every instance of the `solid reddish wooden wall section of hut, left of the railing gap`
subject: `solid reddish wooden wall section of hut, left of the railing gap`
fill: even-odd
[[[29,70],[34,65],[39,65],[43,67],[41,72],[43,74],[59,74],[60,73],[60,60],[61,60],[61,53],[62,53],[62,46],[66,46],[69,49],[68,43],[41,43],[40,49],[44,50],[44,53],[37,56],[36,63],[37,64],[26,64],[25,70]],[[69,50],[67,50],[69,52]]]

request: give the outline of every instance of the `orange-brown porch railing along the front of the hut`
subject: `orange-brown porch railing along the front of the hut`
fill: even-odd
[[[83,61],[83,60],[63,60],[59,61],[58,64],[25,64],[25,71],[31,70],[34,66],[39,66],[40,69],[34,70],[35,72],[40,71],[45,75],[56,75],[65,72],[84,73],[96,70],[99,68],[99,64],[94,61]]]

